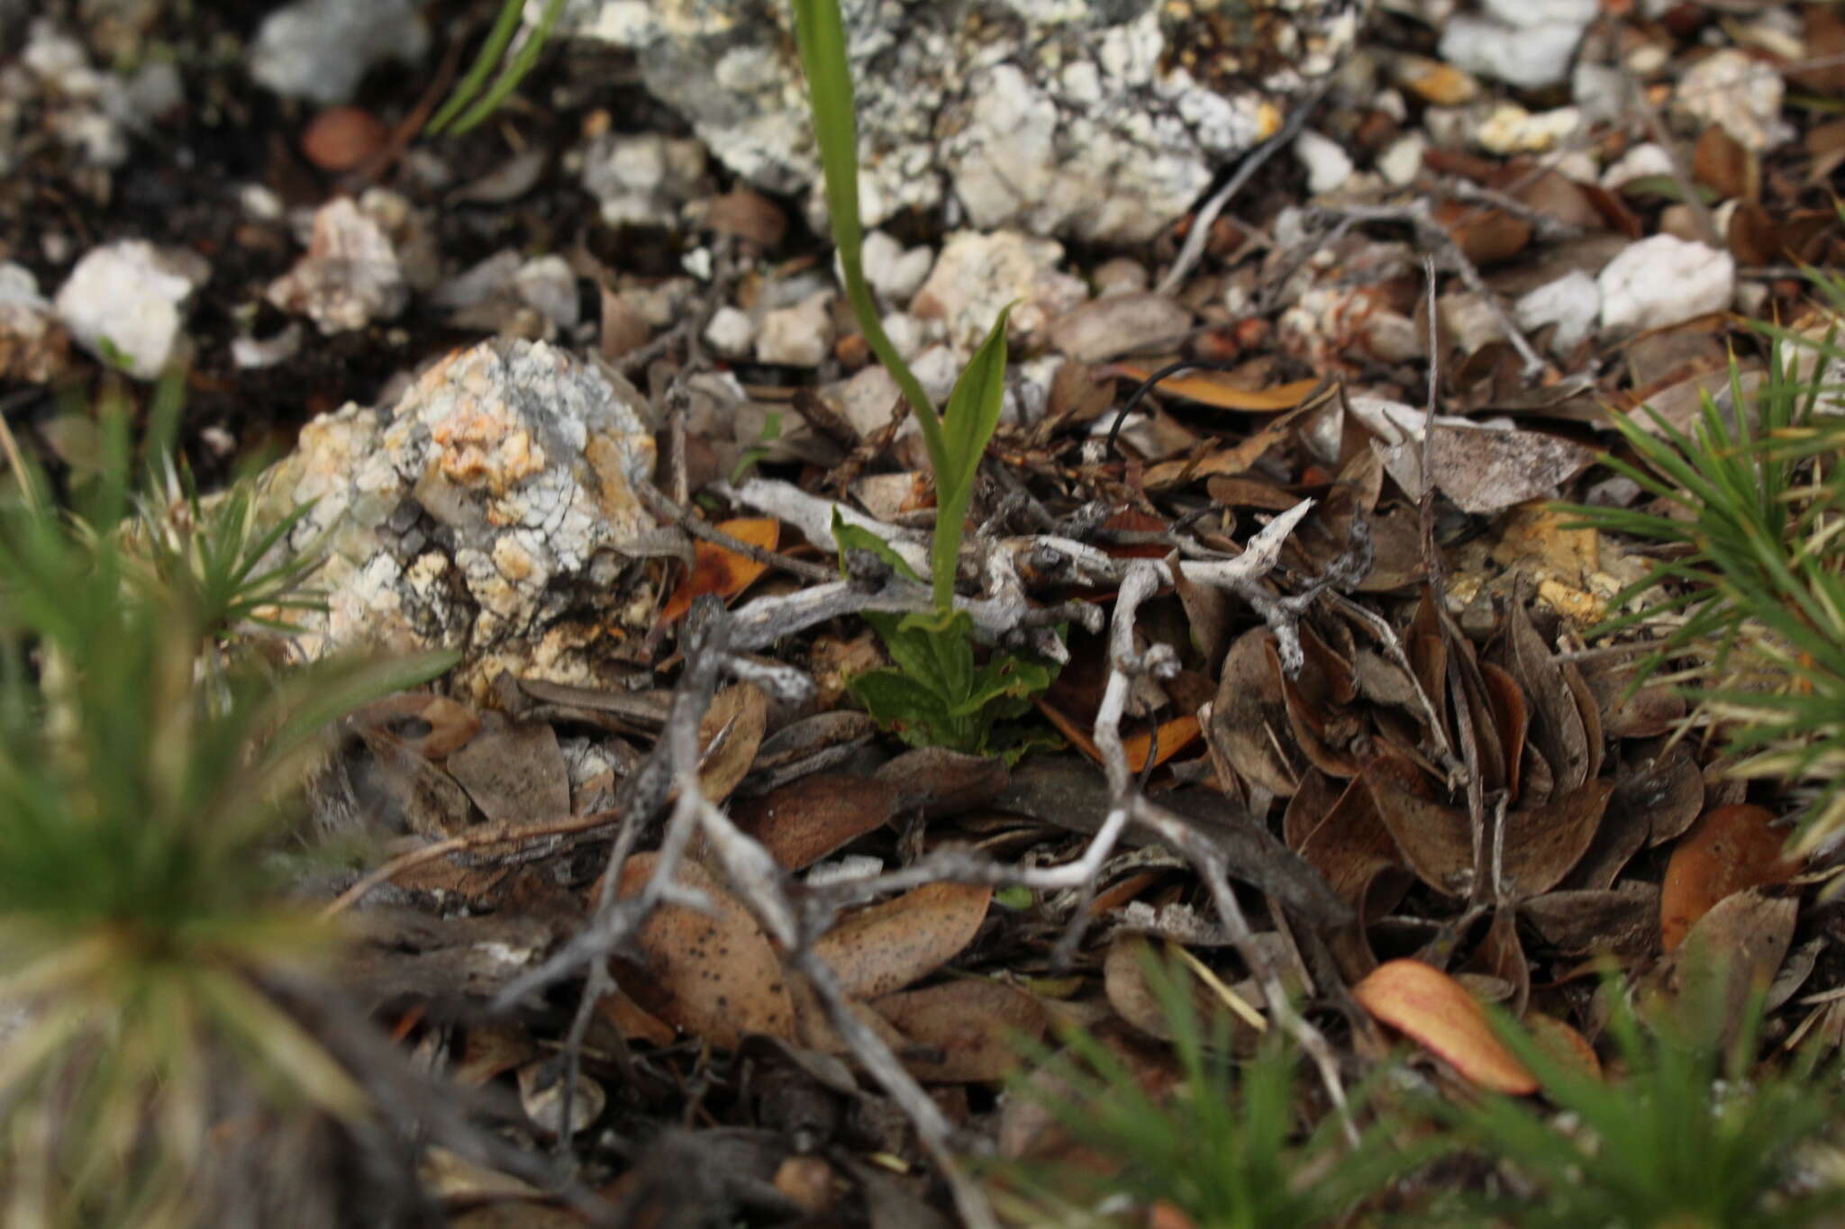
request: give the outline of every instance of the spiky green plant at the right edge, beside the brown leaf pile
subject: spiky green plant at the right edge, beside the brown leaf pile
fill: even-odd
[[[1819,278],[1834,304],[1845,287]],[[1668,630],[1637,684],[1668,671],[1723,724],[1734,772],[1797,779],[1814,800],[1795,842],[1845,827],[1845,427],[1828,330],[1762,326],[1758,378],[1732,359],[1727,404],[1708,394],[1688,429],[1651,409],[1616,415],[1633,461],[1609,457],[1670,512],[1577,507],[1577,527],[1664,547],[1594,634]],[[1644,601],[1642,601],[1644,599]]]

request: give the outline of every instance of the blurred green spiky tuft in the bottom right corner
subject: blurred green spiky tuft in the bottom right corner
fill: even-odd
[[[1609,1034],[1624,1069],[1603,1078],[1568,1065],[1517,1026],[1502,1036],[1559,1115],[1483,1094],[1439,1111],[1507,1170],[1513,1194],[1454,1200],[1520,1229],[1795,1229],[1838,1223],[1845,1187],[1821,1161],[1841,1107],[1839,1071],[1806,1052],[1786,1071],[1756,1067],[1760,997],[1732,1045],[1707,1021],[1655,1010],[1644,1024],[1618,1006]]]

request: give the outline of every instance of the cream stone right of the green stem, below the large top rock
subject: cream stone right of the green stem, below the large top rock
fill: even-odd
[[[941,321],[948,343],[972,354],[993,330],[1006,304],[1015,304],[1007,335],[1015,343],[1033,341],[1050,321],[1065,315],[1089,297],[1079,278],[1059,273],[1063,245],[1017,230],[948,236],[928,282],[917,291],[910,313]]]

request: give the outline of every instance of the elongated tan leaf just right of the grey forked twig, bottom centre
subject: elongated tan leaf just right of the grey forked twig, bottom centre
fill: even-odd
[[[841,918],[814,942],[852,999],[895,993],[954,960],[987,918],[993,888],[932,883]]]

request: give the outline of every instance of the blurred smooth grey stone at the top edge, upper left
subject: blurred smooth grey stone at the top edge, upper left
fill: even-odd
[[[295,0],[269,13],[249,72],[284,98],[332,105],[352,98],[375,64],[415,64],[430,44],[411,0]]]

